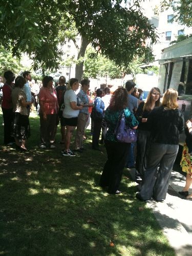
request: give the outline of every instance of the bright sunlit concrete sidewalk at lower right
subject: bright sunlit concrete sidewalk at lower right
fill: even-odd
[[[130,174],[133,177],[134,170]],[[182,198],[178,191],[183,189],[185,177],[173,170],[170,178],[166,200],[156,202],[148,200],[170,245],[178,256],[192,255],[192,200]],[[189,189],[192,193],[192,189]]]

